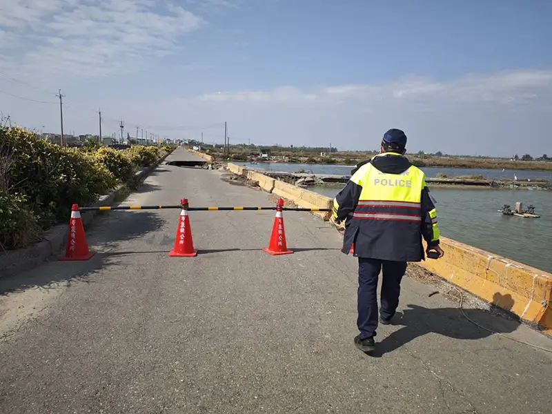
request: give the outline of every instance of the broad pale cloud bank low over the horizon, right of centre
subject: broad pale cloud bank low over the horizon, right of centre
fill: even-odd
[[[552,70],[220,91],[167,102],[166,111],[172,106],[196,123],[227,120],[238,141],[374,149],[388,128],[402,128],[413,150],[552,153]]]

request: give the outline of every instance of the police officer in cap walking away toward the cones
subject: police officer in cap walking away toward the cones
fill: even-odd
[[[375,349],[377,328],[377,279],[383,270],[380,323],[388,325],[399,305],[400,283],[406,262],[444,255],[439,246],[435,206],[429,197],[425,175],[404,154],[406,135],[388,130],[380,154],[358,165],[351,179],[334,199],[333,218],[346,220],[342,252],[351,246],[358,257],[359,287],[355,345],[364,352]]]

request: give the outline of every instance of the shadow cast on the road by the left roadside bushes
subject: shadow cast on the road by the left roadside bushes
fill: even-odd
[[[92,276],[99,269],[110,263],[109,249],[119,248],[121,242],[145,237],[162,226],[165,220],[156,213],[143,211],[128,213],[126,211],[112,211],[101,220],[95,219],[90,228],[85,229],[90,250],[98,250],[88,261],[58,262],[57,257],[65,253],[57,253],[50,257],[48,262],[32,270],[13,277],[0,278],[0,296],[10,295],[21,290],[56,288],[58,284],[71,282],[94,282]]]

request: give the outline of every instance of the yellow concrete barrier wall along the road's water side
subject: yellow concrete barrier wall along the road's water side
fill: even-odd
[[[304,208],[332,208],[333,199],[304,190],[297,186],[275,180],[259,172],[247,171],[243,167],[228,164],[234,173],[244,174],[249,179],[259,181],[259,186],[268,193],[295,202]],[[318,213],[329,217],[331,213]],[[519,262],[500,257],[441,237],[445,251],[441,259],[426,259],[417,264],[477,295],[478,297],[518,315],[524,320],[552,335],[552,274],[526,266]]]

